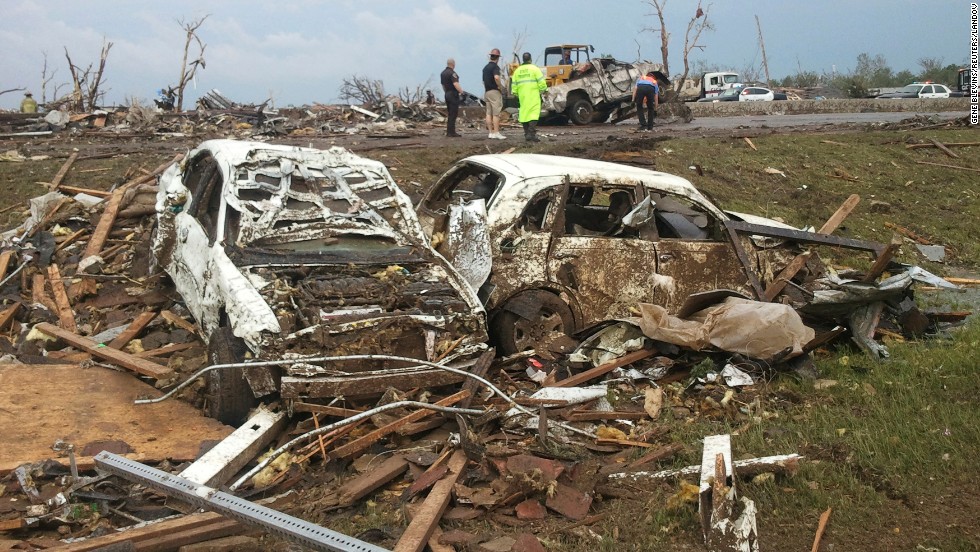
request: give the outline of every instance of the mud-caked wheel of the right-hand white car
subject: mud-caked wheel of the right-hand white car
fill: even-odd
[[[528,316],[514,312],[518,305],[538,304]],[[511,308],[508,308],[511,307]],[[504,355],[533,349],[551,332],[568,333],[575,325],[572,310],[557,295],[547,291],[528,291],[515,296],[490,321],[493,333]]]

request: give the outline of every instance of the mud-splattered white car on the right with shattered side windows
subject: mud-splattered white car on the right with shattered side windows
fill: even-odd
[[[478,290],[504,353],[630,316],[639,303],[673,314],[710,290],[763,297],[799,252],[787,244],[878,251],[725,212],[678,176],[549,155],[467,157],[416,210],[433,246]]]

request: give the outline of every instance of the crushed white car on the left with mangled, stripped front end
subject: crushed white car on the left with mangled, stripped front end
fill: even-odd
[[[379,162],[341,149],[212,140],[160,179],[156,262],[198,321],[212,364],[294,360],[208,372],[208,410],[233,423],[256,398],[435,386],[486,350],[486,315],[429,247],[407,196]],[[374,377],[368,377],[373,375]]]

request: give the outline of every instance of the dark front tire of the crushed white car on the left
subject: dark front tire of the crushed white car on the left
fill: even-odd
[[[237,364],[245,359],[248,347],[231,328],[218,328],[208,340],[208,360],[214,364]],[[208,416],[221,423],[238,426],[248,418],[248,411],[258,401],[241,368],[212,370],[207,378]]]

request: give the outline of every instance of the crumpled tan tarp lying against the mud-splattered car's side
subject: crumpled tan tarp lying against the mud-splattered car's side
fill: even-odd
[[[640,313],[640,328],[651,339],[695,351],[714,347],[760,360],[798,356],[814,337],[813,329],[789,305],[739,297],[729,297],[687,319],[647,303],[640,304]]]

